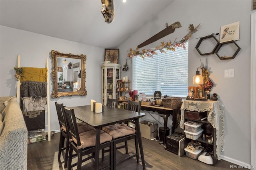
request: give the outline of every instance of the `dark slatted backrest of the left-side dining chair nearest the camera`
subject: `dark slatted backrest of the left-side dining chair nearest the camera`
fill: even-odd
[[[81,146],[74,109],[63,107],[63,111],[67,120],[67,132],[69,134],[69,139],[76,140],[77,146]]]

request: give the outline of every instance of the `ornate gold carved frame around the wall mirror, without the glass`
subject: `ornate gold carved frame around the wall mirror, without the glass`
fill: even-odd
[[[87,91],[85,89],[85,78],[86,78],[86,71],[85,71],[85,61],[86,55],[73,55],[72,53],[60,53],[59,51],[52,50],[52,82],[53,82],[53,89],[52,89],[52,98],[62,97],[62,96],[74,96],[74,95],[81,95],[86,96]],[[73,58],[73,59],[81,59],[81,87],[80,91],[68,91],[68,92],[58,92],[58,74],[57,74],[57,57],[66,57],[66,58]]]

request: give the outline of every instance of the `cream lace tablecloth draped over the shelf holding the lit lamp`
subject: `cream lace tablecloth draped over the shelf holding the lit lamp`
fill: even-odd
[[[220,154],[224,151],[224,118],[223,105],[219,101],[188,101],[184,100],[181,106],[180,127],[184,129],[184,110],[204,112],[209,111],[207,120],[216,129],[216,153],[220,160]]]

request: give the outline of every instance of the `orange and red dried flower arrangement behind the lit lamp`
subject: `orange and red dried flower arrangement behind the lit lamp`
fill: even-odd
[[[210,91],[212,87],[214,86],[214,83],[212,83],[212,80],[210,79],[210,73],[208,71],[208,62],[206,59],[206,64],[202,63],[201,61],[201,68],[202,68],[202,76],[204,81],[204,91]]]

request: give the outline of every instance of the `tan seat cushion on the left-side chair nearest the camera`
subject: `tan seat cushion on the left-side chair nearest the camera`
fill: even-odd
[[[89,130],[79,134],[82,148],[87,148],[96,145],[96,130]],[[108,142],[112,140],[112,136],[108,133],[100,130],[100,143]],[[74,139],[74,142],[76,140]]]

